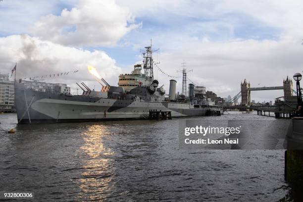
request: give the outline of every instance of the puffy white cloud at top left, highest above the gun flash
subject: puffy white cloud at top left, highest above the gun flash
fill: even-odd
[[[71,10],[64,8],[59,16],[42,16],[35,23],[33,35],[68,46],[112,46],[140,26],[128,8],[114,0],[80,0]]]

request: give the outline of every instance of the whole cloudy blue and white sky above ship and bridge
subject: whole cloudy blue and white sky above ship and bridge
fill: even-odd
[[[235,96],[241,81],[252,87],[282,86],[303,70],[303,2],[300,0],[2,0],[0,73],[17,62],[17,78],[79,70],[43,78],[100,90],[87,65],[113,86],[118,75],[142,62],[151,44],[158,68],[188,78],[220,97]],[[168,93],[169,80],[154,67]],[[192,70],[192,71],[190,71]],[[188,81],[188,83],[190,83]],[[274,101],[282,90],[254,91]]]

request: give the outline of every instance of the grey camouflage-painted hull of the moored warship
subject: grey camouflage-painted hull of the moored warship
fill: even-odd
[[[172,117],[203,116],[205,108],[189,103],[129,101],[68,96],[15,88],[18,123],[142,119],[150,110],[171,111]]]

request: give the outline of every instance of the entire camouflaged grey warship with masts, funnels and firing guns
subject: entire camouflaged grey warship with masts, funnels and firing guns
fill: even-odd
[[[82,95],[36,91],[27,88],[21,79],[15,81],[18,123],[147,119],[150,111],[170,111],[172,117],[203,116],[209,107],[215,107],[205,98],[205,87],[194,89],[190,84],[189,97],[176,95],[175,80],[170,80],[165,98],[163,86],[153,79],[152,52],[152,46],[145,47],[143,63],[134,65],[130,74],[119,75],[118,86],[98,78],[101,91],[91,90],[83,82],[77,83]]]

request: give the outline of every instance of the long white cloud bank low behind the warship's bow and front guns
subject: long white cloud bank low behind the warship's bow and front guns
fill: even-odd
[[[101,50],[82,50],[43,41],[28,35],[12,35],[0,38],[1,73],[8,73],[17,62],[17,78],[29,78],[79,70],[68,76],[47,78],[50,83],[66,83],[77,88],[76,82],[86,81],[93,89],[96,84],[87,70],[90,64],[97,68],[101,76],[111,85],[116,85],[121,69],[115,60]],[[45,79],[45,77],[44,77]]]

